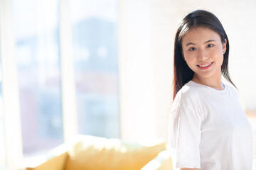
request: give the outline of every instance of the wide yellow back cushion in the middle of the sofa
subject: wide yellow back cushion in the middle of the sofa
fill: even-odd
[[[164,142],[140,145],[117,139],[87,136],[69,151],[70,157],[65,170],[142,169],[164,149]]]

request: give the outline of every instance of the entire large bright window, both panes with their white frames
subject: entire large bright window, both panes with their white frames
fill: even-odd
[[[74,133],[120,137],[117,0],[7,0],[0,7],[0,169],[29,162]],[[1,64],[11,77],[4,96]],[[64,74],[70,71],[74,80]]]

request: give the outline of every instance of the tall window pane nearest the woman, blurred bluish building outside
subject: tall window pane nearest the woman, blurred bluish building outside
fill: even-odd
[[[119,137],[117,0],[70,1],[78,132]]]

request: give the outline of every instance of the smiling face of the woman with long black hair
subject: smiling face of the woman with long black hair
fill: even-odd
[[[183,57],[195,73],[193,79],[221,79],[226,40],[221,42],[218,33],[209,28],[191,28],[183,36],[181,45]]]

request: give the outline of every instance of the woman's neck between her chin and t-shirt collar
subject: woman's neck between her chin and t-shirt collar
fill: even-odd
[[[221,74],[220,77],[210,77],[210,78],[203,78],[198,77],[196,74],[194,74],[192,81],[196,82],[197,84],[203,84],[205,86],[210,86],[213,89],[216,90],[223,90],[223,86],[221,84]]]

